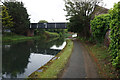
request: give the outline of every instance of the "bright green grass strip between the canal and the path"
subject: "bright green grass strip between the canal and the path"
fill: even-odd
[[[58,74],[64,69],[68,62],[68,59],[72,53],[73,42],[71,40],[67,41],[65,48],[58,53],[53,59],[51,59],[46,65],[38,70],[43,70],[42,72],[35,71],[29,78],[57,78]]]

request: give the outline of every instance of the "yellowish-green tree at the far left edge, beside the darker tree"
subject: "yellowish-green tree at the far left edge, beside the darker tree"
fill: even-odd
[[[11,18],[11,16],[9,16],[8,11],[7,11],[7,7],[6,6],[2,6],[2,31],[4,32],[5,29],[10,29],[12,30],[13,27],[13,18]]]

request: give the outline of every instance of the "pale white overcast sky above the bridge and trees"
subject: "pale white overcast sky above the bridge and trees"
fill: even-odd
[[[47,20],[48,22],[66,22],[66,12],[63,10],[64,0],[18,0],[22,1],[30,15],[31,22]],[[103,0],[110,9],[120,0]]]

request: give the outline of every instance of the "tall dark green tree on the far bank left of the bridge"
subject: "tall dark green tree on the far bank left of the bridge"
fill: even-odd
[[[8,8],[8,13],[13,18],[14,26],[12,32],[17,34],[26,33],[29,29],[30,19],[26,8],[22,2],[4,2],[4,5]]]

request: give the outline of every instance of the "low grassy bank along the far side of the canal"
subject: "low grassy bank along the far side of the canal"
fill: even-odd
[[[3,35],[2,41],[3,42],[11,42],[11,41],[24,41],[24,40],[29,40],[29,39],[39,39],[39,38],[55,38],[59,37],[59,34],[53,33],[53,32],[45,32],[43,35],[36,35],[33,37],[28,37],[28,36],[23,36],[23,35],[17,35],[17,34],[6,34]]]

